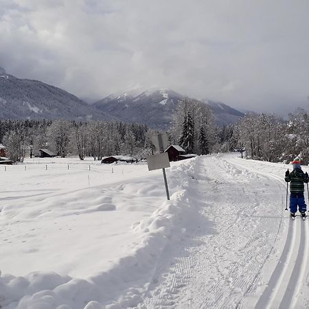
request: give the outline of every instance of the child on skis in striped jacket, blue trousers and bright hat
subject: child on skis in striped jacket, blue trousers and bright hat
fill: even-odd
[[[295,217],[297,205],[303,218],[306,217],[307,206],[304,198],[304,183],[308,183],[308,173],[301,170],[301,159],[296,157],[292,162],[293,171],[286,171],[284,180],[290,181],[290,216]]]

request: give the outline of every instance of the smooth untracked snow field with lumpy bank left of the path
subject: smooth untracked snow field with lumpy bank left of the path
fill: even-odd
[[[146,275],[177,227],[185,163],[167,170],[172,196],[165,201],[161,171],[148,172],[147,165],[113,165],[111,173],[111,165],[66,170],[66,163],[50,162],[42,170],[45,162],[5,171],[1,306],[138,304]]]

